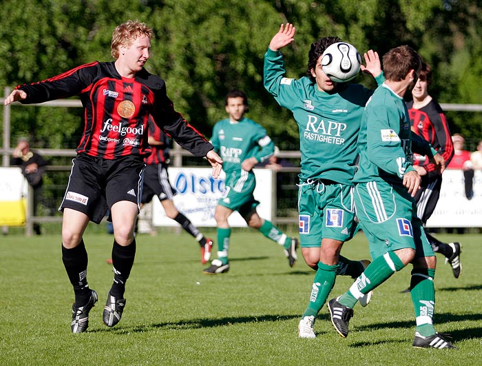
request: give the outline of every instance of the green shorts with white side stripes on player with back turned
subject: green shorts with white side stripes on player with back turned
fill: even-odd
[[[415,258],[435,255],[417,217],[415,200],[403,185],[358,183],[355,207],[374,259],[404,248],[415,249]]]

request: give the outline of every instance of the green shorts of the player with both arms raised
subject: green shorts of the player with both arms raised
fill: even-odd
[[[357,232],[351,185],[309,180],[298,189],[300,242],[320,247],[323,238],[348,241]]]

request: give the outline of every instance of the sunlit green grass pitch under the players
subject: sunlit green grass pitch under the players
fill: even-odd
[[[217,276],[201,274],[205,266],[188,234],[164,229],[138,236],[127,305],[113,328],[101,320],[112,283],[105,263],[112,236],[90,229],[88,279],[99,301],[89,332],[71,334],[73,292],[60,234],[0,236],[0,365],[480,365],[480,236],[439,238],[463,243],[461,278],[441,256],[435,278],[436,328],[452,334],[456,350],[412,347],[412,303],[400,293],[410,281],[408,268],[378,287],[368,307],[355,307],[348,338],[337,335],[326,306],[315,323],[317,338],[297,338],[314,272],[301,255],[290,268],[280,247],[248,229],[233,230],[231,270]],[[343,253],[369,258],[364,235]],[[332,295],[351,283],[338,277]]]

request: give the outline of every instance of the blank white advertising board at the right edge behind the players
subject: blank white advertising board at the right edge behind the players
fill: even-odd
[[[463,171],[443,172],[440,199],[427,227],[482,227],[482,171],[474,174],[474,196],[465,196]]]

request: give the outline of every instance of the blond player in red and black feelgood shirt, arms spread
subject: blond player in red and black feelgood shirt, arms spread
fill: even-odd
[[[125,281],[136,252],[134,222],[139,210],[144,158],[149,155],[149,114],[167,134],[195,156],[206,156],[217,177],[222,159],[213,145],[174,110],[163,79],[149,74],[154,37],[145,23],[127,21],[112,34],[114,62],[81,65],[45,81],[19,85],[5,104],[42,103],[78,95],[84,108],[85,128],[73,161],[61,210],[62,259],[74,286],[72,332],[85,332],[88,314],[97,294],[87,283],[87,252],[83,232],[89,221],[101,222],[109,209],[114,226],[112,284],[103,312],[103,322],[112,327],[125,306]]]

